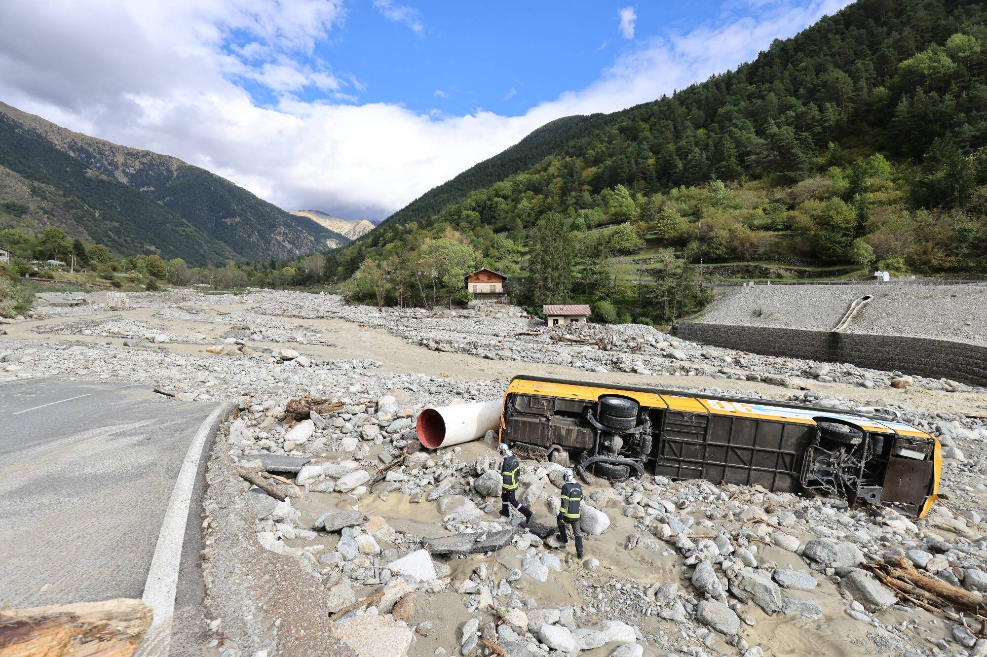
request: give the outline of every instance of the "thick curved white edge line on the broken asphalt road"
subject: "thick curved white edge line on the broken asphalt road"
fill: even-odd
[[[175,613],[175,592],[178,588],[179,565],[182,561],[182,544],[185,541],[186,522],[189,519],[191,496],[195,485],[198,462],[205,447],[210,427],[223,412],[223,404],[209,413],[186,452],[182,470],[179,471],[168,500],[168,510],[161,523],[158,543],[154,547],[151,567],[144,583],[143,601],[154,611],[154,620],[144,639],[142,653],[168,655],[172,640],[172,616]]]

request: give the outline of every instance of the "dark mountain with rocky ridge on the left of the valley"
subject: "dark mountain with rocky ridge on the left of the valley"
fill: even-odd
[[[294,257],[346,242],[177,158],[73,132],[3,103],[0,201],[8,204],[0,205],[0,227],[52,225],[121,255],[157,252],[196,264]]]

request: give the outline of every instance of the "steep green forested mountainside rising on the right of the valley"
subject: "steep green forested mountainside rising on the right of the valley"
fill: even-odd
[[[408,291],[420,263],[482,263],[531,273],[534,302],[621,302],[636,295],[612,256],[642,250],[658,277],[699,261],[987,270],[985,7],[860,0],[734,71],[563,129],[523,172],[437,187],[419,201],[445,205],[397,213],[339,275],[370,258],[391,298],[426,303]]]

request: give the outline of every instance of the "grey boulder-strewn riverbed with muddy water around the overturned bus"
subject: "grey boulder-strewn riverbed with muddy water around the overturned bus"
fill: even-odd
[[[896,555],[987,593],[987,421],[967,416],[987,411],[981,389],[738,354],[646,327],[548,330],[512,307],[377,311],[271,291],[131,297],[130,311],[93,302],[2,327],[0,382],[138,382],[232,402],[202,510],[213,653],[987,654],[977,620],[917,607],[869,569]],[[424,404],[496,399],[515,367],[893,405],[943,442],[949,501],[917,520],[757,487],[594,478],[578,560],[571,544],[498,517],[492,441],[401,460]],[[299,415],[289,401],[305,395],[340,405]],[[285,499],[241,478],[244,468],[281,477],[266,482]],[[559,467],[522,462],[520,497],[541,523],[554,522],[560,483]],[[434,549],[449,536],[455,546]]]

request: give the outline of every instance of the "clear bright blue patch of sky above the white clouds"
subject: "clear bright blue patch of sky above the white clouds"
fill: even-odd
[[[346,5],[332,37],[299,55],[328,65],[363,89],[346,92],[354,103],[403,104],[411,110],[466,114],[490,110],[521,114],[560,94],[581,89],[622,52],[651,37],[716,25],[737,9],[758,16],[774,3],[730,2],[415,2],[402,20],[387,18],[372,0]],[[633,37],[621,30],[621,10],[631,9]],[[625,26],[626,27],[626,26]],[[276,95],[247,81],[260,103]],[[327,99],[309,87],[300,100]],[[332,99],[332,97],[328,97]]]

